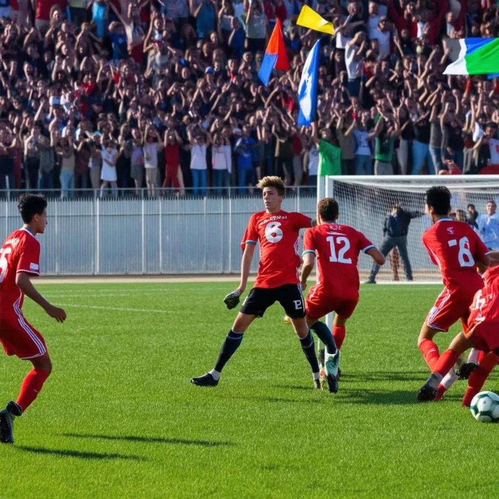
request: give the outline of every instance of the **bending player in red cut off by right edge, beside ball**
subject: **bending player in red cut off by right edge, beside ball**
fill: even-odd
[[[463,406],[470,406],[473,397],[499,362],[499,262],[494,263],[483,274],[485,286],[475,294],[466,332],[454,338],[449,349],[440,356],[427,382],[420,388],[418,400],[421,402],[437,398],[443,377],[468,348],[476,348],[487,355],[470,375]]]

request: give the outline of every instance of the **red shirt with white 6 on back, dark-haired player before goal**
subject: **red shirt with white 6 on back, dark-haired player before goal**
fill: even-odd
[[[483,287],[476,262],[489,250],[467,223],[440,219],[423,234],[423,244],[433,263],[440,267],[447,288],[475,293]]]

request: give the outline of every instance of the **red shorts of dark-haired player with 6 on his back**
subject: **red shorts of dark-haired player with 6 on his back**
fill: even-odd
[[[428,312],[426,323],[432,329],[447,332],[455,322],[461,319],[466,331],[473,296],[474,294],[470,296],[467,293],[451,291],[445,287],[438,295],[433,308]]]

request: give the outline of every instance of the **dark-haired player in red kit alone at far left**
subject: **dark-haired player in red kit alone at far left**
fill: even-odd
[[[29,360],[33,369],[24,378],[17,400],[9,402],[0,412],[2,444],[14,442],[14,418],[23,414],[34,401],[52,370],[43,336],[22,314],[24,295],[58,322],[66,319],[66,312],[43,298],[30,280],[40,272],[40,243],[36,235],[45,231],[47,202],[38,194],[24,194],[17,207],[24,225],[10,234],[0,249],[0,341],[7,355]]]

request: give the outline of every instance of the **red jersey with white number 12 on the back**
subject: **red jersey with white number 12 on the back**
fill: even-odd
[[[359,231],[339,224],[322,224],[308,229],[303,237],[303,254],[317,255],[317,286],[331,296],[359,293],[359,253],[374,245]]]

